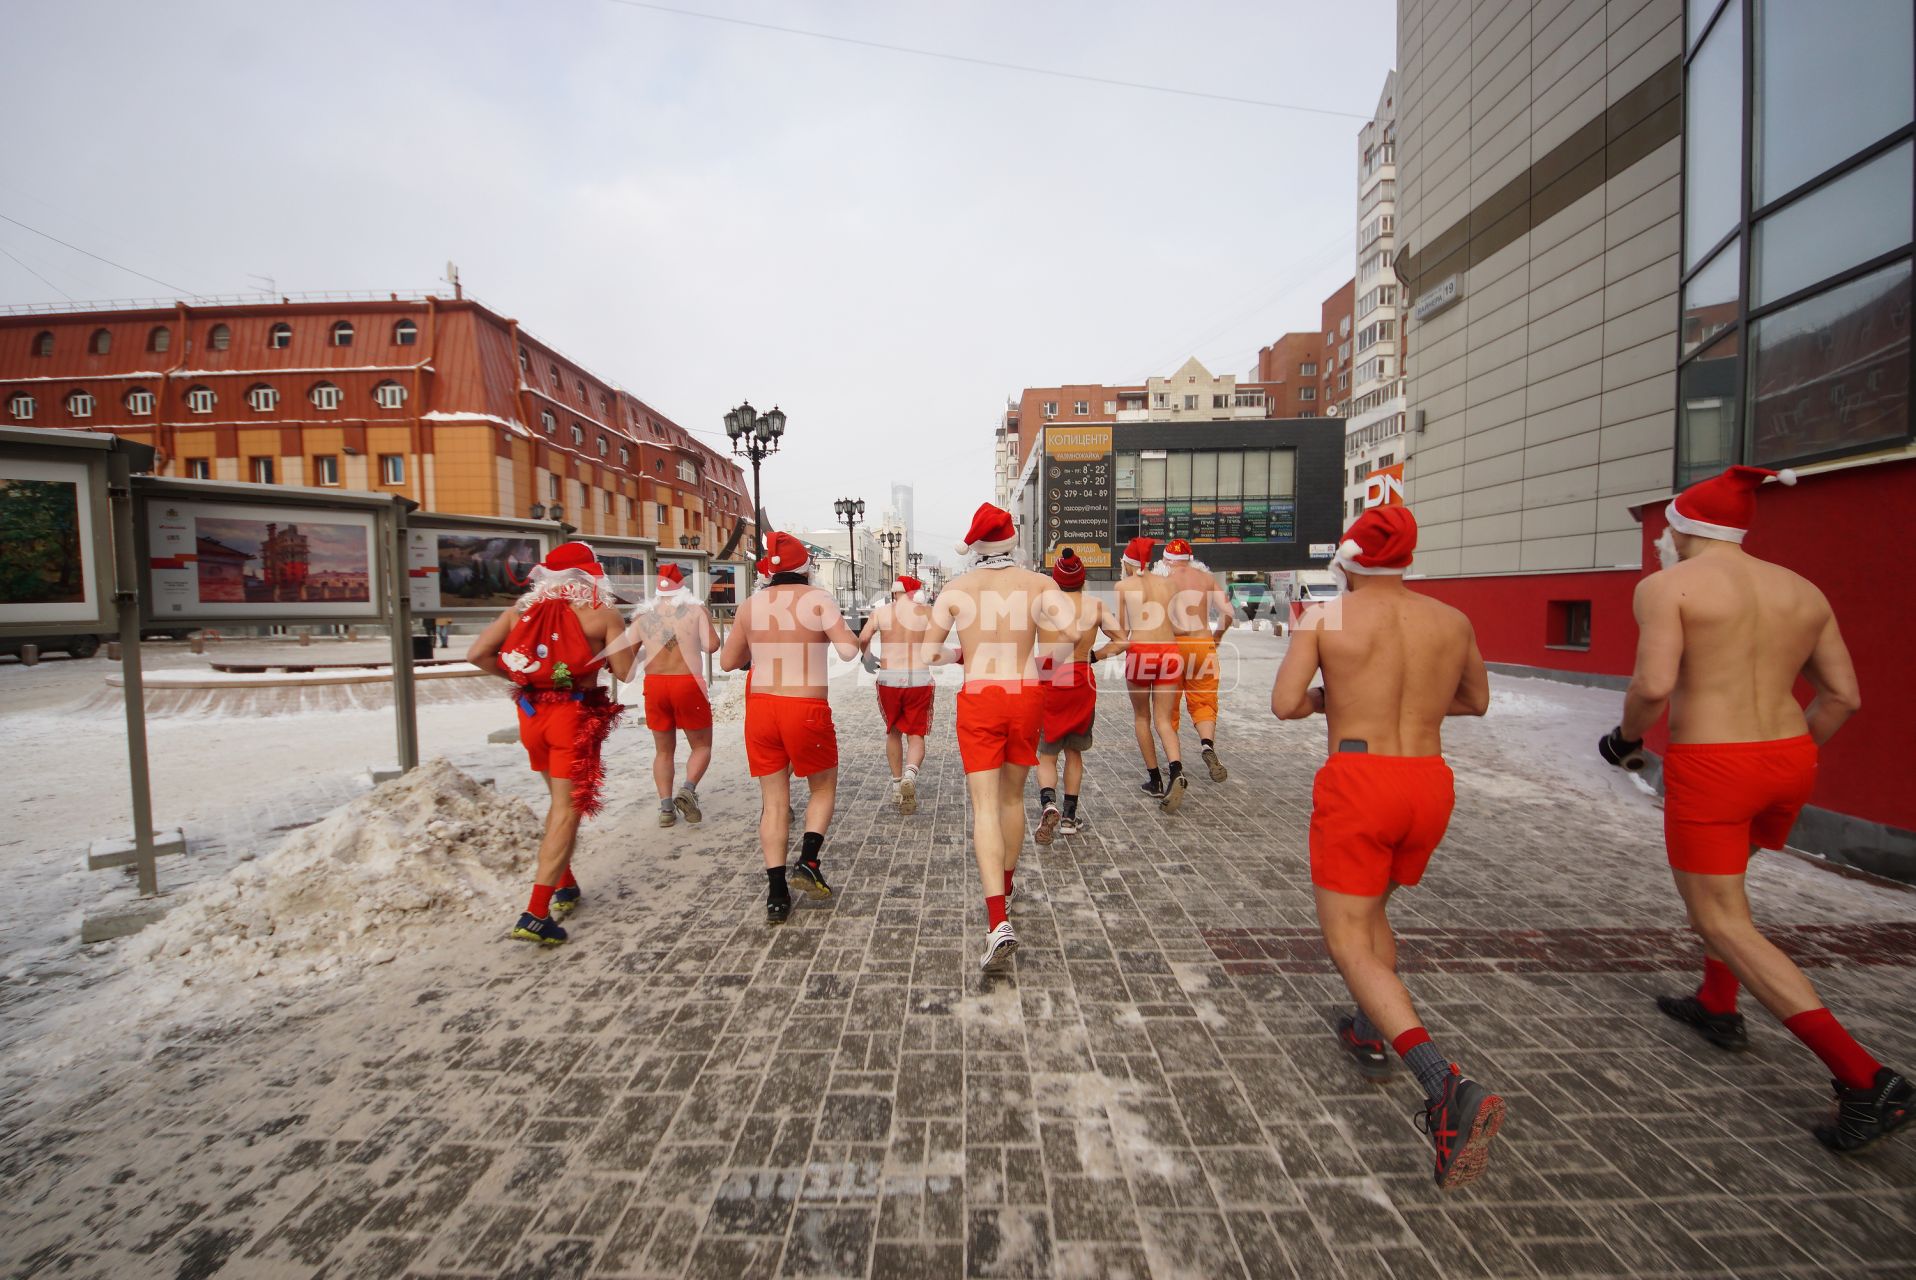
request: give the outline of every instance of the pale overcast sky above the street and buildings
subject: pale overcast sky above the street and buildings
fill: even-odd
[[[1395,44],[1391,0],[673,8],[1360,115]],[[1243,374],[1353,272],[1335,115],[617,0],[63,0],[0,31],[6,217],[194,293],[431,289],[452,259],[686,427],[782,404],[776,523],[904,481],[933,556],[991,496],[1006,395]],[[171,293],[8,222],[0,249],[33,268],[0,255],[8,303]]]

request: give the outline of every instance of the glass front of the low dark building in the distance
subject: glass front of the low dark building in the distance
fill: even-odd
[[[1295,542],[1297,450],[1146,448],[1115,458],[1117,540]]]

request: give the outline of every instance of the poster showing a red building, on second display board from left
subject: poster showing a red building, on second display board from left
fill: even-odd
[[[146,502],[149,615],[376,619],[377,517],[266,502]]]

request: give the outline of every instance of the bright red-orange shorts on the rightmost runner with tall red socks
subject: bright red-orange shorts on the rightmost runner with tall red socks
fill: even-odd
[[[1673,742],[1663,753],[1663,847],[1671,866],[1742,876],[1749,849],[1782,849],[1816,789],[1809,734],[1776,742]]]

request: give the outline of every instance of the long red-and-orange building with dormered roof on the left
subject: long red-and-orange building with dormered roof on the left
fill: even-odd
[[[128,435],[165,475],[749,554],[738,464],[517,320],[464,297],[335,297],[13,309],[0,422]]]

